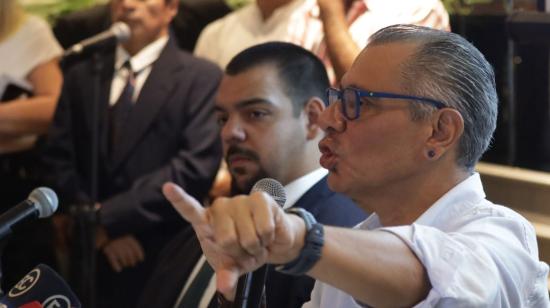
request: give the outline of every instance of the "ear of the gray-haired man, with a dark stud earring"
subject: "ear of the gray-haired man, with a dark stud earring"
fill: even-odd
[[[445,152],[455,148],[463,133],[464,119],[458,110],[438,110],[432,118],[432,135],[426,143],[424,155],[428,159],[438,159]]]

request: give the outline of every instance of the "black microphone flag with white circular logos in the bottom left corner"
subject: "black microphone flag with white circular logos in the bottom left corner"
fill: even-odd
[[[21,307],[39,302],[42,307],[79,308],[80,301],[67,283],[44,264],[32,269],[0,299],[0,307]],[[36,305],[34,305],[36,307]]]

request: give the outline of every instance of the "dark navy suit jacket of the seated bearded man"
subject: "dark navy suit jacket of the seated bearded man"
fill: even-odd
[[[308,190],[294,206],[307,209],[325,225],[351,227],[366,217],[366,213],[350,199],[330,191],[326,177]],[[201,254],[193,229],[188,227],[180,232],[160,254],[138,307],[173,307]],[[310,277],[290,276],[270,269],[266,279],[267,307],[301,307],[309,300],[313,284],[314,280]],[[215,304],[216,300],[210,306],[215,307]]]

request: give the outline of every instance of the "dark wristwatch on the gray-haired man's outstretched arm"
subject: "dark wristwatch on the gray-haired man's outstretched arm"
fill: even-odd
[[[321,250],[325,243],[323,225],[315,220],[313,215],[299,207],[291,207],[286,213],[298,215],[306,224],[306,238],[304,247],[298,257],[287,264],[277,266],[275,269],[281,273],[290,275],[303,275],[307,273],[321,258]]]

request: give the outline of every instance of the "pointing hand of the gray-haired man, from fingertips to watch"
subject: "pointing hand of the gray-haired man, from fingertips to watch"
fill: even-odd
[[[192,224],[203,253],[216,271],[217,288],[228,299],[233,299],[241,274],[266,263],[287,263],[299,255],[304,222],[285,214],[267,193],[218,198],[203,208],[175,184],[165,184],[163,192]]]

